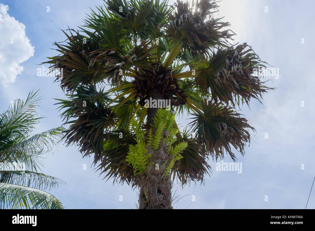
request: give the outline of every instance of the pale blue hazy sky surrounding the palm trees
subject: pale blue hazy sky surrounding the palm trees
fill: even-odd
[[[1,14],[5,17],[0,17],[0,106],[5,109],[10,101],[25,99],[30,90],[40,89],[45,99],[38,111],[46,118],[38,124],[37,131],[59,126],[62,121],[52,98],[64,98],[64,93],[53,83],[54,77],[37,77],[37,68],[41,67],[37,64],[57,54],[51,48],[52,42],[65,40],[60,29],[68,26],[76,29],[83,24],[89,8],[95,9],[95,5],[103,1],[0,0],[0,3],[9,8],[6,10],[3,6]],[[303,209],[315,175],[314,46],[311,43],[315,35],[312,18],[315,3],[311,0],[303,3],[223,0],[218,5],[220,12],[215,15],[225,16],[222,20],[230,22],[230,29],[237,34],[235,41],[247,42],[263,61],[278,68],[279,78],[265,77],[272,80],[267,85],[277,89],[265,94],[263,105],[253,99],[250,109],[241,108],[241,113],[256,129],[256,133],[251,132],[246,155],[237,153],[242,173],[216,171],[215,161],[210,159],[212,174],[206,177],[204,184],[191,184],[182,189],[175,182],[175,196],[189,195],[174,207]],[[24,43],[15,40],[12,46],[9,39],[18,35]],[[18,66],[23,66],[23,70]],[[13,71],[8,72],[9,68]],[[186,118],[179,119],[183,124],[186,121]],[[265,138],[266,132],[268,138]],[[224,161],[232,160],[226,157]],[[77,147],[60,144],[45,163],[44,173],[66,181],[67,185],[51,193],[68,209],[135,208],[136,190],[128,185],[113,185],[112,180],[102,180],[104,176],[90,168],[92,159],[82,159]],[[83,170],[83,164],[87,165],[87,170]],[[302,164],[304,170],[301,170]],[[123,201],[119,201],[120,195]],[[265,201],[266,195],[268,201]],[[307,208],[315,208],[314,188]]]

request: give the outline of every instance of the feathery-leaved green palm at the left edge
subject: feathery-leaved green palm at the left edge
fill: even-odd
[[[43,190],[65,182],[41,172],[43,154],[61,138],[65,129],[57,127],[34,134],[36,107],[42,99],[31,91],[24,102],[17,99],[0,115],[0,208],[63,209],[52,194]]]

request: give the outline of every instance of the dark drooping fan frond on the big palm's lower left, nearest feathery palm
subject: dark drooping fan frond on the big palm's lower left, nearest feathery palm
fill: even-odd
[[[104,130],[114,127],[118,118],[107,106],[111,99],[95,87],[79,87],[77,94],[69,95],[70,100],[59,100],[61,114],[66,124],[71,124],[65,131],[67,146],[76,143],[84,156],[95,153],[95,163],[103,152]],[[73,119],[69,121],[70,119]]]

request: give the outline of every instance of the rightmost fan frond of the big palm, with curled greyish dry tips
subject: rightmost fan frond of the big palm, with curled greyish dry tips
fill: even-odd
[[[235,46],[235,47],[234,47]],[[249,100],[259,100],[268,88],[261,82],[255,70],[266,67],[246,43],[218,50],[209,61],[202,60],[193,68],[196,69],[196,84],[212,98],[228,103],[239,98],[249,105]],[[252,52],[252,53],[250,53]]]

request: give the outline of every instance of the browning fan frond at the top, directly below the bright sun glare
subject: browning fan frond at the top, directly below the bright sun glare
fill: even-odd
[[[230,24],[211,17],[214,13],[211,11],[217,7],[211,0],[201,0],[192,5],[192,8],[198,9],[193,12],[188,3],[177,1],[175,13],[170,15],[167,38],[175,43],[180,42],[184,51],[187,50],[193,57],[209,54],[209,49],[214,46],[227,46],[226,39],[234,33],[229,33],[230,30],[221,31]]]

